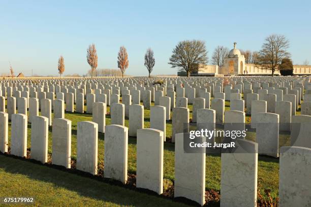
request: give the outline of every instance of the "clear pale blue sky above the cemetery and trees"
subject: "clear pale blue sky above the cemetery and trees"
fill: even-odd
[[[294,64],[311,63],[310,1],[2,1],[0,74],[85,74],[86,48],[95,43],[98,68],[117,68],[117,52],[129,53],[126,74],[146,76],[144,53],[154,50],[153,74],[176,74],[167,63],[178,41],[206,42],[214,48],[259,50],[271,33],[290,40]]]

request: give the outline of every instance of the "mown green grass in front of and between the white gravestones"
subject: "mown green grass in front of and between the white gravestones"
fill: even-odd
[[[153,103],[152,103],[153,105]],[[230,110],[230,102],[226,101],[226,109]],[[190,118],[192,118],[192,105],[189,105]],[[110,109],[107,107],[107,111]],[[298,113],[297,113],[298,114]],[[53,116],[53,115],[52,115]],[[76,160],[77,149],[77,122],[91,121],[91,114],[65,113],[65,118],[72,121],[72,159]],[[149,127],[150,110],[144,110],[144,127]],[[251,117],[246,116],[245,122],[249,123]],[[110,124],[110,116],[106,116],[106,125]],[[129,120],[125,120],[125,125],[129,126]],[[172,124],[166,124],[166,136],[171,137]],[[31,124],[28,124],[27,148],[30,148]],[[247,132],[246,139],[255,141],[255,132]],[[11,137],[11,123],[9,122],[9,143]],[[289,135],[280,134],[279,143],[281,146],[289,144]],[[52,150],[52,128],[49,128],[48,153]],[[99,133],[98,141],[98,162],[99,167],[103,166],[104,161],[104,134]],[[173,204],[170,200],[140,194],[126,188],[110,186],[99,182],[96,179],[85,178],[80,175],[70,174],[48,166],[39,165],[32,162],[22,161],[0,155],[0,197],[21,195],[34,195],[40,200],[42,205],[56,204],[57,202],[65,205],[98,205],[98,204],[133,204],[151,205],[155,203]],[[128,170],[129,174],[136,174],[136,137],[129,137],[128,150]],[[164,143],[164,179],[165,182],[174,182],[174,144]],[[206,190],[220,191],[221,179],[221,157],[220,154],[206,156]],[[258,158],[258,182],[260,190],[270,189],[273,198],[278,194],[278,159],[267,156]],[[19,185],[22,184],[22,185]],[[33,187],[32,187],[33,186]],[[42,189],[41,189],[42,188]],[[31,189],[31,190],[29,190]],[[83,191],[85,189],[85,192]],[[109,189],[109,190],[108,190]],[[9,195],[8,195],[8,192]],[[119,195],[113,195],[117,194]],[[262,193],[264,194],[264,193]],[[150,198],[149,198],[150,197]],[[133,199],[135,198],[135,199]],[[141,201],[140,203],[140,199]],[[53,202],[53,203],[51,203]],[[136,203],[139,202],[139,203]],[[154,202],[154,203],[153,203]],[[61,204],[60,204],[61,205]],[[180,205],[180,203],[178,203]]]

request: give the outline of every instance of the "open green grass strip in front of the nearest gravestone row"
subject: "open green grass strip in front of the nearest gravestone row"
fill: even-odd
[[[0,186],[0,197],[32,197],[33,206],[186,206],[4,155],[0,155]]]

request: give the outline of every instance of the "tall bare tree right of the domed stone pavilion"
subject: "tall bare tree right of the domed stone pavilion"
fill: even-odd
[[[283,35],[271,34],[265,39],[262,49],[259,52],[258,64],[271,71],[271,76],[278,71],[278,66],[282,59],[289,58],[290,53],[287,52],[289,41]]]

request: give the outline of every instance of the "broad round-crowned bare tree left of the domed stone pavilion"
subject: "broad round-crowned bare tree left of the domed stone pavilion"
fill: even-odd
[[[179,42],[173,50],[169,64],[185,71],[187,77],[195,71],[199,64],[207,63],[205,42],[201,40],[185,40]]]

